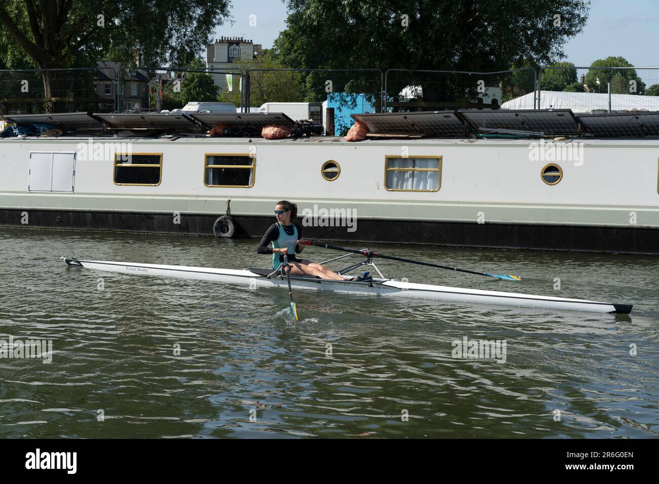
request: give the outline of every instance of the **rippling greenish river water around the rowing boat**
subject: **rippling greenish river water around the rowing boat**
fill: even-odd
[[[45,353],[0,358],[0,437],[659,435],[659,257],[378,244],[383,254],[523,281],[379,262],[388,277],[634,309],[297,291],[299,322],[285,309],[285,290],[100,273],[59,260],[268,267],[257,244],[0,229],[0,339],[52,340],[50,363]],[[505,340],[505,362],[455,358],[454,342],[465,337]]]

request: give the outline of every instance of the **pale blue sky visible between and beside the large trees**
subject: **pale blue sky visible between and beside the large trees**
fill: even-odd
[[[219,26],[219,36],[243,36],[272,47],[286,28],[286,7],[281,0],[233,0],[235,24]],[[583,32],[569,39],[564,51],[574,65],[587,67],[596,59],[621,56],[637,67],[659,66],[659,0],[592,0]],[[250,26],[255,15],[256,26]],[[253,23],[253,22],[252,22]],[[656,74],[659,77],[659,73]],[[659,82],[659,79],[654,79]]]

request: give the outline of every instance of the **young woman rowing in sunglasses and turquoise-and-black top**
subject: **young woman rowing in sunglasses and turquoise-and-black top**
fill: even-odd
[[[341,277],[322,264],[316,264],[307,259],[298,259],[295,256],[304,249],[304,246],[297,243],[302,238],[302,227],[293,222],[297,217],[295,203],[287,200],[277,203],[275,217],[277,223],[270,226],[256,250],[258,254],[272,254],[272,269],[277,269],[283,263],[283,255],[286,254],[291,265],[291,275],[318,276],[321,279],[337,281],[351,280]],[[272,244],[272,247],[268,247],[269,244]]]

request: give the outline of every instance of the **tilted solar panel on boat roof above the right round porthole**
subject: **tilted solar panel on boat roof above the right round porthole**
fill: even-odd
[[[546,135],[577,135],[579,123],[570,109],[461,109],[460,115],[478,132],[492,129],[542,132]],[[490,128],[480,130],[480,128]]]

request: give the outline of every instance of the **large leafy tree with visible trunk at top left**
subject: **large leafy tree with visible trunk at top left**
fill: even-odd
[[[22,0],[0,4],[0,58],[40,69],[124,64],[177,65],[201,51],[229,17],[228,0]],[[44,95],[56,74],[43,71]],[[47,109],[52,109],[51,104]]]

